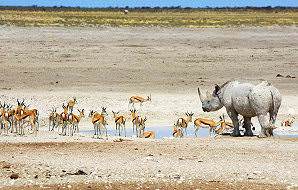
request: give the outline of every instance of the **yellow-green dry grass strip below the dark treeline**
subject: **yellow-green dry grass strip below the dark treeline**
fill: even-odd
[[[34,11],[1,10],[1,25],[15,26],[289,26],[298,25],[297,10]]]

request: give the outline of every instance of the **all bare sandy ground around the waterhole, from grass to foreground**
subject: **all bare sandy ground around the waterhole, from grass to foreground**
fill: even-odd
[[[170,126],[186,111],[218,118],[224,110],[203,113],[196,88],[211,90],[215,83],[231,79],[270,81],[283,94],[278,119],[290,110],[298,113],[298,79],[276,77],[298,77],[297,27],[0,27],[0,44],[0,101],[15,104],[17,98],[25,98],[40,111],[42,127],[47,127],[49,109],[62,111],[62,103],[73,96],[77,108],[85,108],[87,114],[106,106],[109,113],[120,110],[128,115],[131,95],[151,94],[152,102],[141,110],[148,126]],[[109,122],[113,126],[111,115]],[[87,116],[81,127],[92,129]],[[208,189],[206,183],[215,180],[226,189],[272,189],[270,184],[297,188],[295,139],[127,140],[132,141],[46,132],[24,138],[2,135],[0,187],[78,183],[72,187],[86,188],[88,182],[105,188],[104,183],[113,182],[116,188],[123,181],[133,188],[153,181],[149,185],[155,188],[161,180],[185,188],[193,187],[187,186],[191,181]],[[78,169],[87,175],[73,175]],[[20,179],[10,180],[13,172]]]

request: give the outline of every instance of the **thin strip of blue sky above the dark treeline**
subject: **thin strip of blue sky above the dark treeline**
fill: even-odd
[[[298,0],[0,0],[0,6],[80,6],[80,7],[243,7],[243,6],[292,6]]]

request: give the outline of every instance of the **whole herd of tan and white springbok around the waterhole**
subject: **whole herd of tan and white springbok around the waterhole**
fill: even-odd
[[[135,104],[140,104],[140,107],[144,102],[151,101],[151,95],[146,98],[141,96],[132,96],[129,98],[129,105],[133,109],[130,109],[130,117],[132,121],[132,131],[137,137],[140,138],[155,138],[154,131],[145,131],[146,117],[141,117],[138,111],[135,109]],[[78,109],[79,114],[74,114],[73,110],[77,104],[76,98],[70,99],[67,104],[63,104],[63,112],[58,113],[56,108],[52,108],[49,113],[49,131],[55,129],[61,135],[70,135],[79,132],[79,123],[83,117],[85,117],[84,109]],[[25,129],[31,134],[37,135],[39,130],[39,112],[37,109],[29,108],[24,100],[17,100],[17,105],[12,105],[0,102],[0,134],[15,133],[18,135],[24,135]],[[94,136],[99,138],[100,136],[108,136],[107,130],[107,108],[102,107],[101,112],[91,110],[89,117],[94,127]],[[124,133],[126,136],[126,120],[124,115],[119,112],[112,111],[112,116],[115,122],[115,129],[117,135],[121,136]],[[186,116],[179,118],[173,125],[172,135],[173,137],[183,137],[187,135],[187,127],[193,120],[193,113],[186,112]],[[289,116],[287,119],[281,122],[281,126],[291,127],[295,118]],[[209,135],[222,134],[228,130],[233,129],[233,124],[225,120],[224,115],[220,116],[220,120],[217,122],[210,118],[197,118],[194,120],[195,136],[198,135],[198,131],[201,127],[209,128]]]

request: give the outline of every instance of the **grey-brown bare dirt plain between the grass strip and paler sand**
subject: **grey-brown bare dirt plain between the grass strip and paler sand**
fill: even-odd
[[[276,75],[298,73],[297,30],[1,27],[1,88],[193,93],[265,79],[293,95],[298,78]]]

